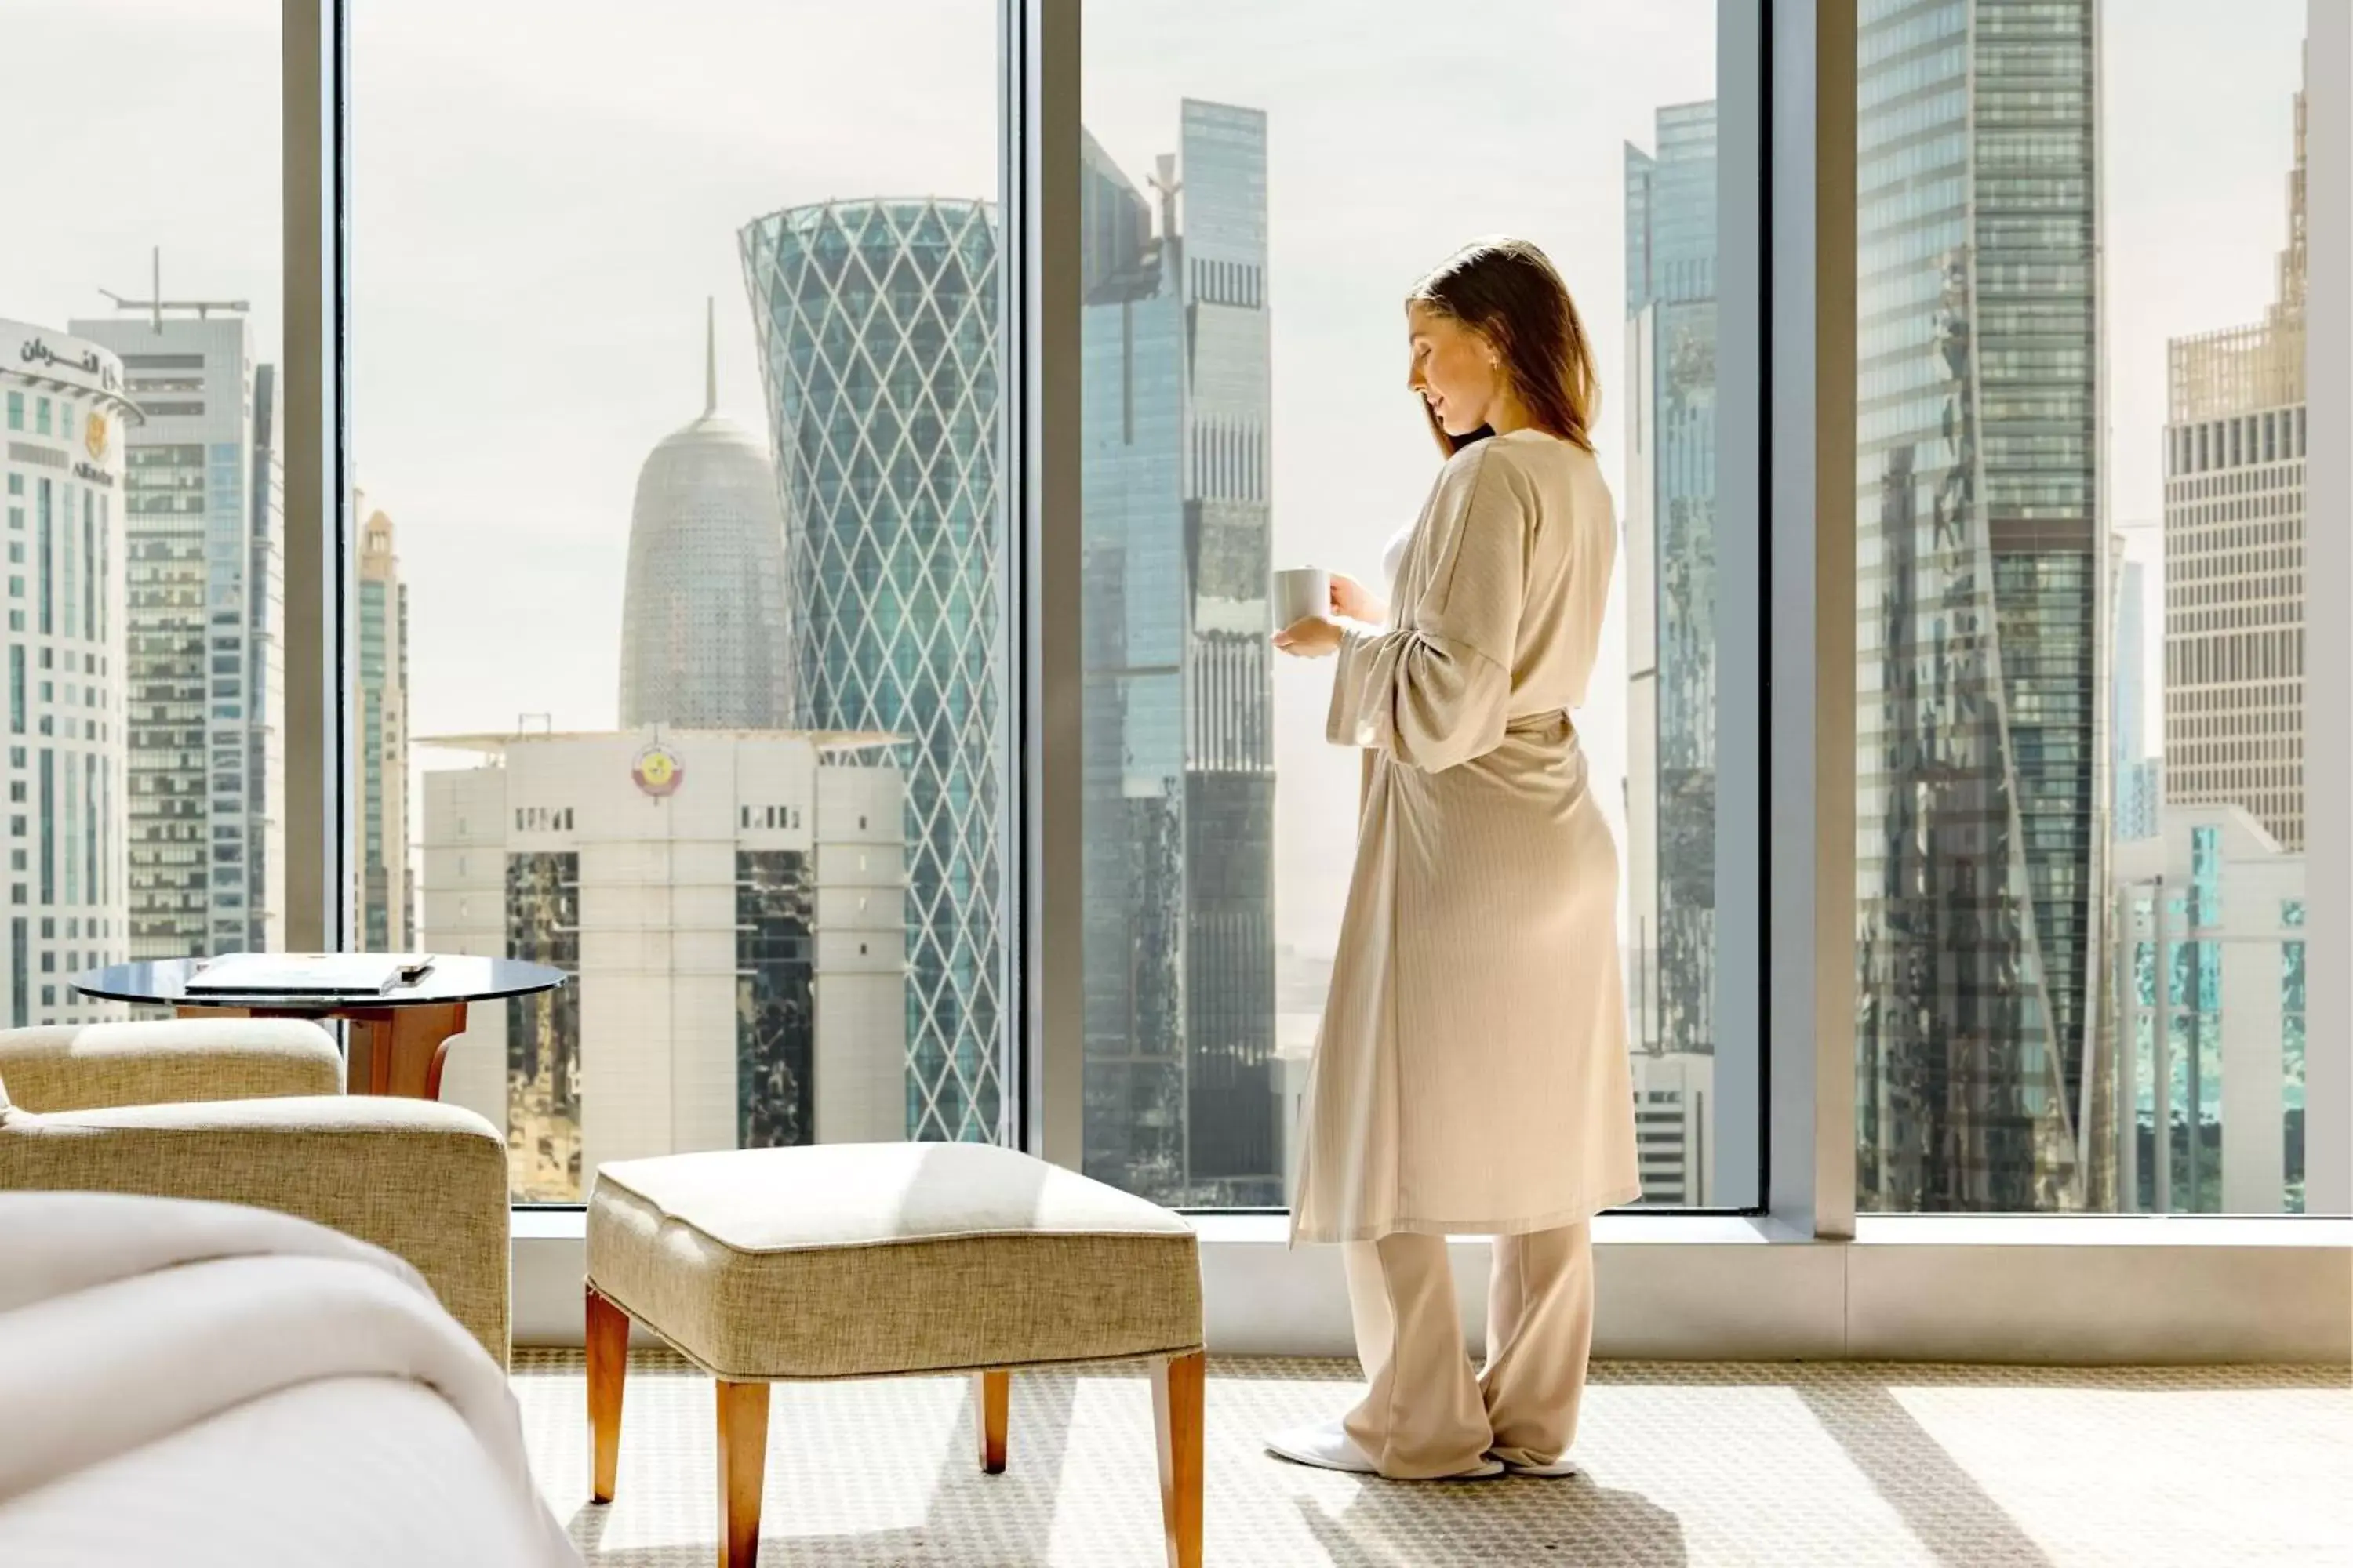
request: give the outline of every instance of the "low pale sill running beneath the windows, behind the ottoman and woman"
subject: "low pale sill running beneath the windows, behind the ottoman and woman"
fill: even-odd
[[[1353,1354],[1337,1246],[1285,1215],[1195,1215],[1209,1347]],[[515,1342],[581,1342],[586,1215],[515,1211]],[[1595,1354],[1722,1361],[2353,1361],[2353,1220],[1864,1215],[1817,1241],[1760,1215],[1607,1213]],[[1473,1347],[1487,1241],[1452,1239]]]

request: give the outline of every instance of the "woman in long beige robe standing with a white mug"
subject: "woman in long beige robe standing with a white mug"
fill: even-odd
[[[1339,661],[1365,750],[1355,875],[1301,1112],[1292,1237],[1344,1241],[1372,1389],[1268,1446],[1393,1479],[1565,1476],[1595,1211],[1638,1197],[1617,846],[1567,710],[1617,557],[1593,353],[1544,252],[1471,244],[1407,301],[1447,454],[1391,545],[1395,611],[1334,576],[1275,646]],[[1449,1234],[1492,1234],[1473,1375]]]

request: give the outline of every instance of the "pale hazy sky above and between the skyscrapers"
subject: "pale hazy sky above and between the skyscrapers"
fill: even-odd
[[[1737,0],[1732,0],[1737,2]],[[760,421],[744,221],[833,195],[995,195],[986,0],[353,0],[353,442],[400,531],[416,733],[605,726],[638,465],[720,400]],[[1715,92],[1713,0],[1094,0],[1085,118],[1136,176],[1179,99],[1268,110],[1275,555],[1369,571],[1433,451],[1398,296],[1518,230],[1602,353],[1624,470],[1624,143]],[[2285,235],[2304,0],[2106,7],[2113,517],[2160,512],[2165,339],[2261,315]],[[0,9],[0,315],[64,324],[99,284],[247,296],[278,346],[278,2]],[[2153,538],[2137,543],[2153,557]],[[1325,947],[1353,837],[1320,741],[1327,665],[1278,679],[1280,933]],[[1617,625],[1586,731],[1624,757]],[[1614,792],[1614,790],[1612,790]]]

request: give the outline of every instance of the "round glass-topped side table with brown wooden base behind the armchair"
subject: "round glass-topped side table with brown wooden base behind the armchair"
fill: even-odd
[[[466,1032],[466,1004],[532,997],[569,978],[560,969],[522,959],[435,954],[433,966],[416,978],[367,997],[188,994],[188,980],[202,966],[205,959],[108,964],[73,976],[73,990],[104,1001],[169,1006],[181,1018],[341,1018],[355,1025],[351,1060],[344,1065],[348,1093],[438,1100],[449,1041]]]

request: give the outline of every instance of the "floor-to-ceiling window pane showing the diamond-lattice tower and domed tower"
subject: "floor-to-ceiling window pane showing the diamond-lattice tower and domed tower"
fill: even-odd
[[[1005,1135],[995,7],[348,19],[367,914],[574,973],[445,1098]]]

